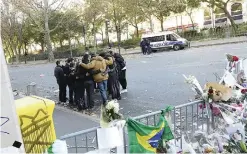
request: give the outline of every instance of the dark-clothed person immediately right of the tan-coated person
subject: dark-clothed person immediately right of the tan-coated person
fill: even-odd
[[[109,58],[113,59],[113,64],[108,66],[108,81],[107,81],[107,86],[108,86],[108,91],[109,94],[111,95],[112,99],[118,99],[121,100],[121,95],[120,95],[120,85],[118,81],[118,70],[117,70],[117,64],[114,59],[114,57],[111,54],[106,54],[105,59],[109,60]]]

